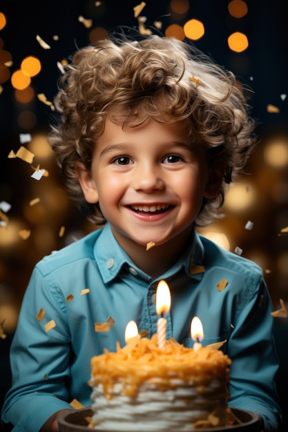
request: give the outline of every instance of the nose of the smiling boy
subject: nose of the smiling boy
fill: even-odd
[[[160,170],[155,166],[140,166],[135,170],[133,187],[135,190],[144,190],[147,193],[153,190],[163,190],[165,182],[160,175]]]

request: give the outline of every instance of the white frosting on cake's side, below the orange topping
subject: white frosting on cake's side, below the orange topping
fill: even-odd
[[[123,394],[121,383],[115,384],[111,399],[103,394],[102,384],[93,387],[91,400],[95,412],[95,429],[103,431],[151,432],[193,431],[193,423],[207,419],[217,409],[225,424],[227,389],[225,383],[211,380],[209,386],[173,380],[175,387],[160,391],[144,382],[136,397]]]

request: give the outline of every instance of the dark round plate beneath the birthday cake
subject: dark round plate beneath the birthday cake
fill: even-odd
[[[258,415],[251,411],[243,409],[231,409],[236,417],[242,422],[233,424],[232,426],[213,427],[208,429],[198,429],[200,432],[262,432]],[[90,408],[77,409],[71,413],[61,415],[58,419],[59,432],[104,432],[101,428],[88,428],[86,418],[91,417],[93,411]],[[105,431],[110,432],[110,431]],[[136,428],[134,432],[142,432],[140,428]],[[173,432],[173,431],[167,431]]]

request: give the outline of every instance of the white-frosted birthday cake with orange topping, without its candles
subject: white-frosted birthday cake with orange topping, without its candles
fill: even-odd
[[[227,422],[231,360],[213,346],[137,335],[91,359],[93,417],[103,431],[193,431]]]

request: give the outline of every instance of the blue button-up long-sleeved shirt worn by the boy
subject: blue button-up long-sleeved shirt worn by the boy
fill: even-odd
[[[197,315],[203,345],[227,340],[222,349],[232,360],[229,405],[256,411],[267,431],[275,431],[278,361],[261,269],[194,233],[190,250],[152,279],[119,247],[109,224],[35,266],[12,342],[12,389],[3,422],[14,424],[13,431],[36,432],[52,413],[70,408],[74,398],[88,406],[91,357],[104,348],[115,351],[117,341],[124,346],[130,320],[140,332],[157,332],[155,290],[160,279],[171,291],[166,337],[192,346],[190,325]],[[220,291],[222,279],[227,286]],[[41,308],[44,317],[37,319]],[[95,323],[108,317],[114,326],[95,331]],[[51,320],[55,326],[48,330]]]

